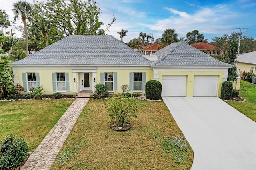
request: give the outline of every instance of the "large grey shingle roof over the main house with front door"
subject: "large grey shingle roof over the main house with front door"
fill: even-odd
[[[150,65],[113,36],[68,36],[10,65]]]

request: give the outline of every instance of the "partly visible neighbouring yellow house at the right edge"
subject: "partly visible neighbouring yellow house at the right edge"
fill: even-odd
[[[236,71],[238,73],[245,71],[256,74],[256,51],[238,55],[236,58]]]

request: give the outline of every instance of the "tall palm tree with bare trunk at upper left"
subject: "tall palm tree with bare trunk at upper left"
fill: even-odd
[[[25,38],[26,38],[25,57],[27,57],[28,56],[28,29],[27,29],[27,23],[26,23],[26,15],[30,13],[31,5],[25,0],[19,0],[14,2],[12,6],[13,6],[12,11],[14,13],[14,21],[18,20],[19,15],[21,15],[22,22],[24,24],[24,32],[25,32]]]

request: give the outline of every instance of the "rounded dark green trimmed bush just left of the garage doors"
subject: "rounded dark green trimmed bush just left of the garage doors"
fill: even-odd
[[[150,100],[161,99],[162,84],[157,80],[150,80],[145,85],[146,98]]]

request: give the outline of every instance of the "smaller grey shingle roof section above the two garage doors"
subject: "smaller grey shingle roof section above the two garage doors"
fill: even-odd
[[[230,64],[219,61],[210,55],[188,45],[185,42],[174,42],[154,53],[158,61],[152,66],[224,66]]]

